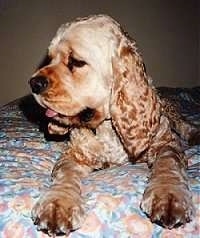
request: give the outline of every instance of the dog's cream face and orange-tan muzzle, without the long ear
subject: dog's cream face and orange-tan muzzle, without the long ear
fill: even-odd
[[[50,63],[30,79],[32,92],[48,117],[91,127],[110,117],[117,27],[109,17],[92,16],[59,28],[49,46]]]

